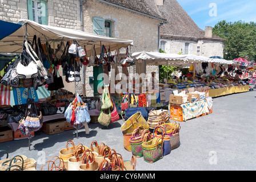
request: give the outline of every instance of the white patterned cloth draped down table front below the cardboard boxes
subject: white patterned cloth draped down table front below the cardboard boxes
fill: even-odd
[[[206,100],[182,104],[183,121],[206,114],[209,110]]]

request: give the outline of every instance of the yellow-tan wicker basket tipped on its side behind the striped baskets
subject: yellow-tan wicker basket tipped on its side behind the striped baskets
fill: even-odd
[[[125,123],[121,126],[121,131],[124,134],[133,133],[138,126],[143,126],[144,129],[149,129],[149,123],[143,118],[141,112],[131,115],[131,117],[124,122]]]

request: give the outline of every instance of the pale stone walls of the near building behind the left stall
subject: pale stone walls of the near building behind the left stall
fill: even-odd
[[[149,16],[134,13],[119,7],[107,5],[96,0],[87,0],[83,3],[83,27],[81,23],[80,1],[76,0],[51,0],[45,1],[47,6],[47,24],[49,26],[71,28],[93,32],[93,16],[101,16],[111,20],[112,37],[118,39],[130,39],[134,41],[130,53],[139,51],[158,51],[158,24],[160,20]],[[27,1],[11,0],[0,1],[0,20],[18,22],[19,19],[28,19]],[[121,68],[119,67],[119,70]],[[129,69],[128,69],[129,70]],[[131,69],[133,72],[133,69]],[[158,67],[148,66],[147,73],[158,73]],[[83,93],[83,76],[77,83],[66,83],[65,89],[71,92]],[[59,69],[62,75],[62,69]],[[89,84],[89,77],[93,76],[93,67],[86,67],[85,88],[86,96],[93,96],[93,84]],[[63,79],[65,76],[63,76]],[[76,86],[75,86],[76,85]]]

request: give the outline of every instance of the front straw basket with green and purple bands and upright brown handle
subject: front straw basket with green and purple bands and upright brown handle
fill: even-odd
[[[163,134],[163,131],[162,131]],[[142,143],[143,158],[145,162],[154,163],[163,158],[163,136]]]

